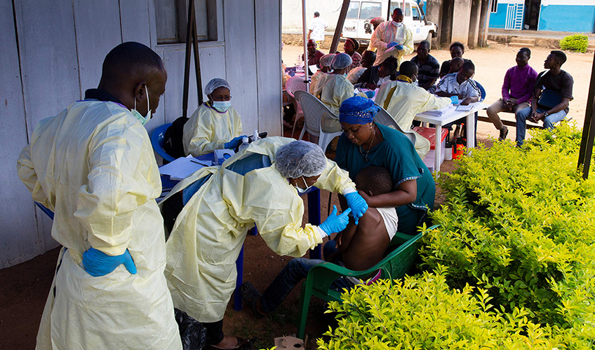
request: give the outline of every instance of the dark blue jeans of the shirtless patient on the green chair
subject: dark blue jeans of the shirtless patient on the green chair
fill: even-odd
[[[328,247],[327,247],[328,246]],[[335,248],[335,241],[328,241],[324,245],[325,255],[328,251],[333,251]],[[278,276],[274,281],[267,287],[265,293],[262,293],[262,310],[267,313],[272,313],[277,307],[285,300],[287,295],[291,293],[293,287],[295,287],[302,279],[305,279],[308,272],[312,267],[319,265],[324,260],[319,259],[306,259],[306,258],[295,258],[289,260],[287,265],[283,267]],[[353,283],[343,279],[335,279],[330,288],[335,290],[342,290],[342,288],[352,288]]]

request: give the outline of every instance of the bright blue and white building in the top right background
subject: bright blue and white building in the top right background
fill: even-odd
[[[492,0],[490,6],[490,28],[595,32],[595,0]]]

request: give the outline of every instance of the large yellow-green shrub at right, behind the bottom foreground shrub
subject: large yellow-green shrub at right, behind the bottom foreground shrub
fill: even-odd
[[[523,308],[573,342],[595,339],[595,181],[576,170],[580,133],[561,125],[523,148],[474,149],[439,179],[446,204],[424,235],[424,267],[481,286],[496,307]],[[570,339],[569,338],[569,339]],[[566,343],[570,345],[570,343]]]

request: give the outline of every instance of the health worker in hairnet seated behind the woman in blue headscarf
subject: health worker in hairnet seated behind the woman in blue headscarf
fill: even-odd
[[[330,69],[333,71],[326,76],[321,76],[312,90],[312,94],[330,109],[335,116],[323,116],[321,120],[324,132],[340,132],[339,107],[341,103],[353,97],[354,86],[347,80],[347,71],[352,64],[352,57],[347,53],[337,53],[330,61]]]

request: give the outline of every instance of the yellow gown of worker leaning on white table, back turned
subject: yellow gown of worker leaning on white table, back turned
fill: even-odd
[[[399,76],[401,78],[401,76]],[[448,97],[436,97],[427,92],[423,87],[413,83],[396,80],[382,84],[378,90],[375,102],[386,109],[392,118],[399,124],[401,130],[411,131],[413,118],[417,113],[431,109],[441,109],[450,104]],[[420,134],[415,133],[415,151],[424,159],[429,152],[430,142]]]

